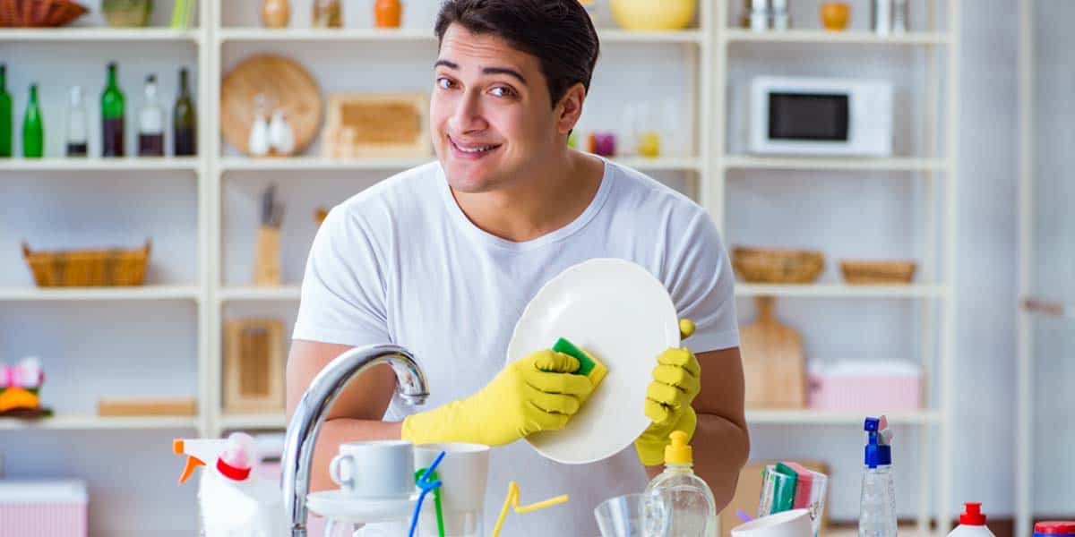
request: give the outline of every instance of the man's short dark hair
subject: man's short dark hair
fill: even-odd
[[[553,106],[577,83],[590,89],[601,45],[578,0],[445,0],[436,16],[438,41],[453,24],[536,56]]]

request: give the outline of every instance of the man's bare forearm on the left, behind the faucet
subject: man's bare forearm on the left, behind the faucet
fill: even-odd
[[[347,345],[295,339],[287,359],[287,417],[290,420],[310,382],[334,358],[352,349]],[[378,365],[355,377],[340,393],[321,426],[314,448],[310,492],[335,489],[329,477],[329,462],[340,444],[357,440],[400,438],[400,423],[381,419],[391,402],[396,375],[388,365]]]

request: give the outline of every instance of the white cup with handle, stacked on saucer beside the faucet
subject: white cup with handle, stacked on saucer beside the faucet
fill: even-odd
[[[349,496],[370,499],[411,497],[414,445],[405,440],[350,441],[329,464],[329,476]]]

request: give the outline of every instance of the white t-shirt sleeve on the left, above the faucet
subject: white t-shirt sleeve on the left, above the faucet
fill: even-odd
[[[374,237],[336,206],[321,222],[302,278],[291,337],[355,347],[392,343]]]

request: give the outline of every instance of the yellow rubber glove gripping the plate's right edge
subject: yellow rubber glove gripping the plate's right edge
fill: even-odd
[[[679,320],[679,337],[686,339],[694,333],[694,323]],[[654,380],[646,390],[646,417],[651,423],[634,440],[639,460],[645,466],[664,462],[664,447],[673,431],[687,433],[688,441],[698,426],[698,416],[690,404],[702,389],[702,366],[687,348],[671,348],[657,357]]]

